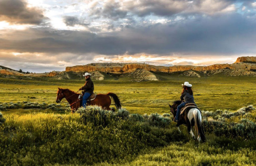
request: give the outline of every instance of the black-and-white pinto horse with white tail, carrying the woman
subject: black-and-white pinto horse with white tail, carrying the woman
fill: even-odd
[[[182,101],[178,100],[173,102],[172,106],[169,104],[174,118],[176,117],[177,107],[181,104],[181,102]],[[198,142],[200,142],[201,139],[203,142],[206,141],[206,138],[204,135],[204,129],[202,126],[201,112],[199,109],[195,107],[186,108],[183,114],[180,115],[180,120],[176,125],[178,127],[179,132],[180,132],[180,128],[179,128],[180,124],[184,124],[185,126],[188,127],[188,132],[191,134],[194,140],[196,139],[196,137],[192,131],[192,127],[195,126],[195,132],[197,133]]]

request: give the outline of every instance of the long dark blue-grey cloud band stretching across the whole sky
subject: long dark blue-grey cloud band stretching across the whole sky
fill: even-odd
[[[78,55],[255,54],[255,26],[254,18],[226,14],[211,18],[199,17],[186,20],[185,23],[124,27],[122,31],[98,34],[30,28],[2,35],[0,49],[12,52],[69,52]]]

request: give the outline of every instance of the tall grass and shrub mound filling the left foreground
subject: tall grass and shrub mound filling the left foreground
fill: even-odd
[[[135,121],[125,110],[8,115],[0,130],[0,165],[119,163],[143,149],[180,140],[188,139],[170,124]]]

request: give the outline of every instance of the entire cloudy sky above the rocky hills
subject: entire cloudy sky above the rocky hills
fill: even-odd
[[[256,0],[0,0],[0,65],[211,65],[256,56]]]

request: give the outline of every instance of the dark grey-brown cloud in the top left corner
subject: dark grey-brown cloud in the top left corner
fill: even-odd
[[[0,21],[12,24],[41,24],[44,19],[43,11],[28,7],[23,0],[0,0]]]

